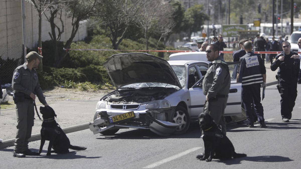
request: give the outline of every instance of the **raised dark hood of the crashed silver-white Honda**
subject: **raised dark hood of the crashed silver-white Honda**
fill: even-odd
[[[115,54],[104,67],[116,88],[133,83],[158,82],[181,87],[169,63],[146,53]]]

